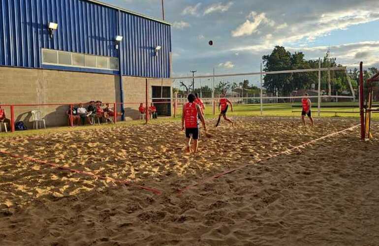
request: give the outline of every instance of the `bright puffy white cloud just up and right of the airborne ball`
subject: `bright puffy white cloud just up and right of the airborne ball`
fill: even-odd
[[[232,31],[233,37],[240,36],[250,36],[254,32],[257,32],[258,27],[261,24],[267,24],[269,26],[274,26],[275,22],[268,19],[265,13],[257,14],[256,12],[251,12],[248,16],[248,20],[242,25],[240,25],[236,30]]]

